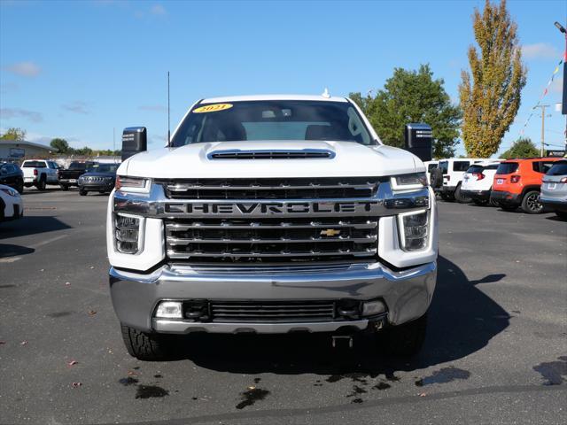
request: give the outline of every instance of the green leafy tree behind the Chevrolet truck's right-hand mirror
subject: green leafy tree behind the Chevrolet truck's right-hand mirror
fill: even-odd
[[[385,144],[403,147],[404,126],[425,122],[433,129],[433,156],[448,158],[454,156],[462,113],[451,104],[443,84],[442,79],[433,79],[429,65],[420,66],[418,71],[395,68],[376,97],[362,97],[361,93],[351,93],[350,97]]]

